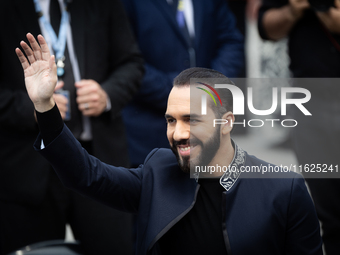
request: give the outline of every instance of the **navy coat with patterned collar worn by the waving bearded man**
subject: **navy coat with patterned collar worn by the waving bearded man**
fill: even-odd
[[[169,149],[155,149],[137,169],[100,162],[64,126],[46,148],[36,150],[64,185],[119,210],[137,214],[137,254],[160,254],[158,240],[194,206],[200,185],[177,165]],[[232,165],[268,165],[238,148]],[[240,153],[241,152],[241,153]],[[244,173],[241,173],[242,177]],[[246,176],[246,175],[245,175]],[[304,180],[231,178],[223,193],[228,255],[322,254],[318,219]]]

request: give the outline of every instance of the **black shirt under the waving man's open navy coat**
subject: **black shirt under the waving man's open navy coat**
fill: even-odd
[[[164,254],[227,254],[222,222],[222,192],[219,179],[199,179],[194,207],[159,240]]]

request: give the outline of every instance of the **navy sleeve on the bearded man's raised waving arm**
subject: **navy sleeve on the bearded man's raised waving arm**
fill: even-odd
[[[115,209],[137,212],[142,167],[126,169],[101,162],[81,147],[66,125],[46,147],[39,135],[34,148],[49,161],[66,187]]]

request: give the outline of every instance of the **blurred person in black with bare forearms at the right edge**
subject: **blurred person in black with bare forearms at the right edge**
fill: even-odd
[[[300,165],[339,165],[340,155],[340,2],[307,0],[263,0],[258,19],[262,38],[279,40],[288,36],[290,70],[294,86],[311,93],[305,104],[312,116],[292,108],[298,125],[292,130]],[[334,170],[335,171],[335,170]],[[340,251],[340,180],[313,178],[306,174],[318,217],[322,223],[327,255]]]

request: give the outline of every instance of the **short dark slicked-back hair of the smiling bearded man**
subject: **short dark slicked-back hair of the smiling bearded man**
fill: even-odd
[[[232,84],[234,83],[222,73],[202,67],[192,67],[182,71],[174,79],[174,87],[189,86],[190,79],[200,79],[202,83],[208,84],[212,87],[216,83],[219,84]],[[233,112],[233,97],[229,89],[218,89],[215,88],[216,92],[220,95],[222,106],[218,104],[217,107],[214,106],[214,102],[210,100],[210,108],[213,109],[215,116],[221,118],[227,112]],[[214,110],[215,109],[215,110]]]

